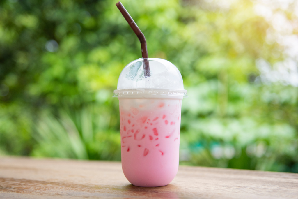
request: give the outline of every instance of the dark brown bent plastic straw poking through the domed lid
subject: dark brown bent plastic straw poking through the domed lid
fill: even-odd
[[[139,41],[141,42],[141,49],[142,49],[142,58],[144,59],[144,75],[145,77],[150,77],[150,67],[149,67],[149,61],[148,58],[148,52],[147,52],[147,42],[144,34],[141,32],[139,27],[136,25],[136,22],[131,18],[125,7],[122,5],[122,3],[119,1],[116,6],[120,10],[121,14],[126,19],[127,23],[130,25],[132,30],[134,30],[134,33],[136,33],[136,36],[139,38]]]

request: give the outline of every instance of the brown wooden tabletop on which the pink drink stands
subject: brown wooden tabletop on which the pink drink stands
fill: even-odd
[[[0,157],[0,198],[297,198],[297,174],[180,166],[167,186],[131,185],[120,162]]]

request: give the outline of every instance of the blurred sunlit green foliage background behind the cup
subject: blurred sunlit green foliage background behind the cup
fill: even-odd
[[[121,160],[118,76],[141,57],[109,0],[0,1],[0,154]],[[123,0],[180,70],[180,164],[297,172],[297,1]]]

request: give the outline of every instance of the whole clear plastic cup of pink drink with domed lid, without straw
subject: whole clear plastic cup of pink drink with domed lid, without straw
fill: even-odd
[[[121,159],[125,177],[135,186],[170,183],[179,165],[181,101],[187,97],[179,70],[169,61],[143,59],[121,72],[114,97],[119,99]]]

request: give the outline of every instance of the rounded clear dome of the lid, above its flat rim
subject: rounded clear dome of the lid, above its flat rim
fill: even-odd
[[[177,67],[171,62],[148,58],[150,77],[144,76],[143,58],[129,63],[122,70],[117,90],[120,89],[178,89],[184,90],[182,76]]]

